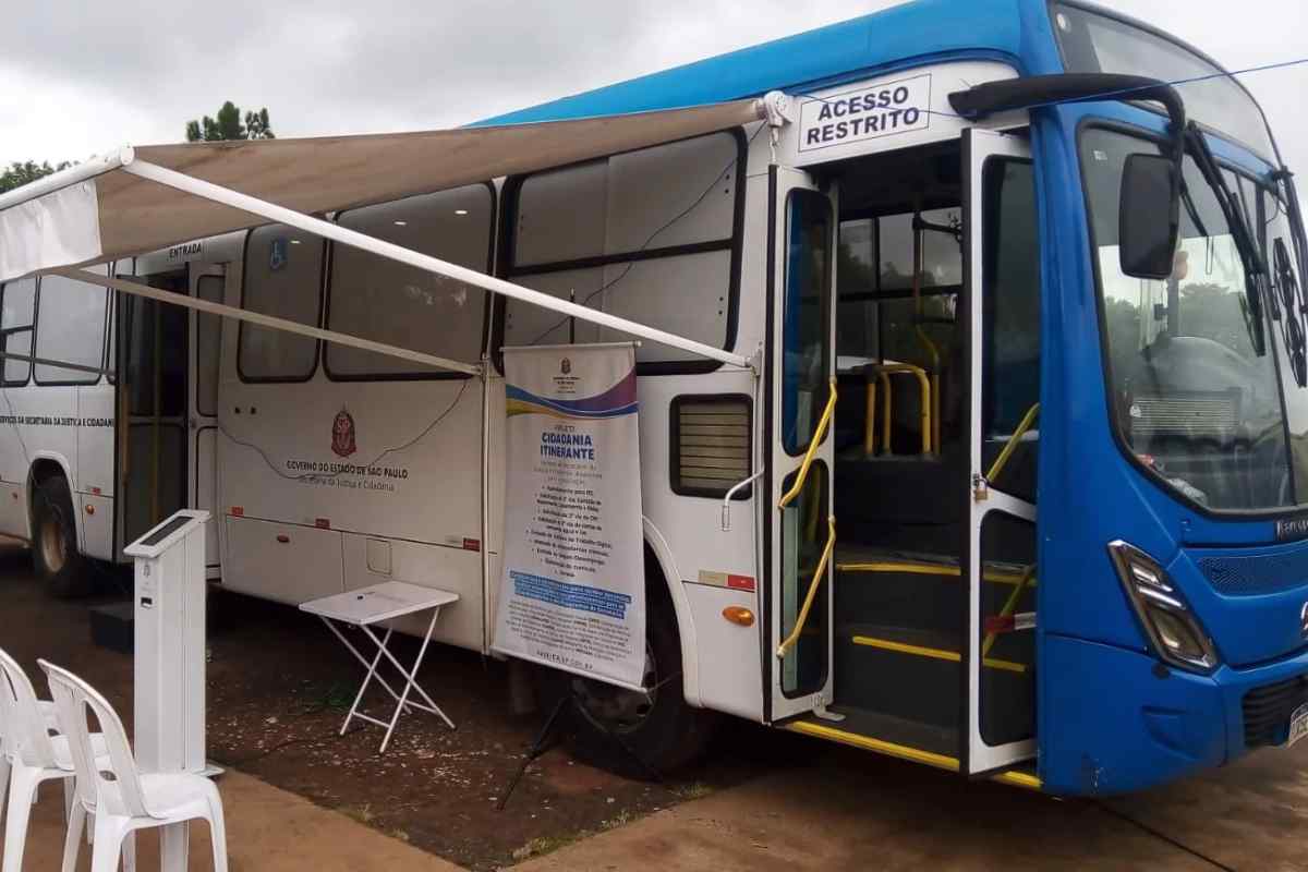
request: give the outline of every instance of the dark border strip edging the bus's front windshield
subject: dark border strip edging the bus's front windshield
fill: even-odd
[[[1076,131],[1075,131],[1076,176],[1080,184],[1082,204],[1086,210],[1086,231],[1087,231],[1084,237],[1084,243],[1087,246],[1086,256],[1090,259],[1091,276],[1093,277],[1093,284],[1091,285],[1090,292],[1093,294],[1095,298],[1095,315],[1096,315],[1095,327],[1099,331],[1099,341],[1096,344],[1099,346],[1099,356],[1100,356],[1099,374],[1100,378],[1103,378],[1101,401],[1104,403],[1104,413],[1108,416],[1108,431],[1113,435],[1113,444],[1117,447],[1118,454],[1126,460],[1126,463],[1133,469],[1135,469],[1144,481],[1156,488],[1164,497],[1175,501],[1177,505],[1190,511],[1194,511],[1199,516],[1206,518],[1209,520],[1264,522],[1264,520],[1279,520],[1284,518],[1303,516],[1304,511],[1308,510],[1308,503],[1296,503],[1294,506],[1283,506],[1277,509],[1213,509],[1210,506],[1203,506],[1196,502],[1194,499],[1190,499],[1176,488],[1169,486],[1165,481],[1163,481],[1162,476],[1155,469],[1150,469],[1148,467],[1144,465],[1143,461],[1139,460],[1139,458],[1135,456],[1134,450],[1126,442],[1126,437],[1122,433],[1121,420],[1117,412],[1113,409],[1113,370],[1112,370],[1112,356],[1108,345],[1108,310],[1107,306],[1104,305],[1104,290],[1103,290],[1104,278],[1100,275],[1100,265],[1099,265],[1099,242],[1095,230],[1096,225],[1095,210],[1090,199],[1090,184],[1086,180],[1086,173],[1083,166],[1084,153],[1082,152],[1082,140],[1086,132],[1092,129],[1108,131],[1110,133],[1130,136],[1143,143],[1156,145],[1160,150],[1168,146],[1169,140],[1165,135],[1159,133],[1158,131],[1150,129],[1147,127],[1141,127],[1137,124],[1131,124],[1129,122],[1113,120],[1101,116],[1083,118],[1076,124]],[[1250,153],[1253,152],[1250,150]],[[1223,159],[1222,157],[1218,157],[1216,162],[1220,169],[1230,170],[1239,176],[1253,179],[1256,184],[1258,183],[1258,179],[1249,170],[1236,166],[1230,161]],[[1267,316],[1270,322],[1270,315],[1267,315],[1269,311],[1270,310],[1265,310],[1265,316]],[[1279,354],[1277,354],[1271,346],[1273,344],[1279,343],[1279,336],[1275,335],[1275,331],[1270,328],[1267,329],[1267,341],[1269,341],[1267,353],[1273,356],[1273,365],[1277,374],[1277,384],[1278,388],[1281,388],[1281,386],[1283,384],[1281,377],[1281,358]],[[1281,390],[1283,391],[1283,388]],[[1281,396],[1282,433],[1283,438],[1286,439],[1286,444],[1290,444],[1288,416],[1286,414],[1284,403],[1286,403],[1284,395],[1282,394]],[[1290,475],[1292,475],[1292,472],[1290,471],[1288,461],[1286,469],[1287,472],[1290,472]],[[1295,495],[1298,497],[1299,494],[1296,493]]]

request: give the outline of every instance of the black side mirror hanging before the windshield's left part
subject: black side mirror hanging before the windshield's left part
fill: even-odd
[[[1172,276],[1181,226],[1181,186],[1176,159],[1131,154],[1122,171],[1118,251],[1122,272],[1135,278]]]

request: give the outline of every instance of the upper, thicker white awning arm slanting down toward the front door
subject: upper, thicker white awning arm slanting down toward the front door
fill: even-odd
[[[530,288],[523,288],[521,285],[514,285],[513,282],[504,281],[502,278],[496,278],[493,276],[487,276],[485,273],[476,272],[475,269],[468,269],[458,264],[453,264],[438,258],[432,258],[430,255],[424,255],[411,248],[398,246],[392,242],[386,242],[383,239],[377,239],[366,234],[358,233],[356,230],[349,230],[331,221],[323,221],[322,218],[314,218],[311,216],[296,212],[294,209],[286,209],[285,207],[279,207],[267,200],[260,200],[258,197],[241,193],[239,191],[233,191],[230,188],[224,188],[221,186],[205,182],[203,179],[196,179],[194,176],[186,175],[184,173],[178,173],[177,170],[170,170],[157,163],[149,163],[146,161],[132,161],[123,165],[126,173],[139,175],[143,179],[149,179],[150,182],[157,182],[187,193],[203,197],[205,200],[212,200],[215,203],[221,203],[224,205],[239,209],[242,212],[249,212],[259,217],[267,218],[268,221],[276,221],[280,224],[289,225],[303,230],[305,233],[313,233],[315,235],[323,237],[326,239],[332,239],[341,244],[352,246],[354,248],[361,248],[370,254],[378,255],[381,258],[387,258],[388,260],[395,260],[398,263],[408,264],[417,269],[425,272],[436,273],[438,276],[446,276],[456,281],[472,285],[475,288],[481,288],[489,290],[494,294],[502,294],[513,299],[519,299],[525,303],[531,303],[534,306],[540,306],[543,309],[553,310],[561,315],[568,315],[570,318],[577,318],[578,320],[590,322],[593,324],[599,324],[600,327],[608,327],[624,333],[630,333],[632,336],[640,336],[641,339],[647,339],[651,343],[658,343],[661,345],[668,345],[671,348],[678,348],[683,352],[689,352],[700,357],[706,357],[713,361],[719,361],[722,363],[730,363],[732,366],[739,366],[740,369],[751,369],[749,360],[740,357],[739,354],[732,354],[731,352],[725,352],[721,348],[713,348],[712,345],[705,345],[704,343],[697,343],[693,339],[685,339],[684,336],[678,336],[675,333],[668,333],[666,331],[649,327],[646,324],[640,324],[637,322],[627,320],[625,318],[617,318],[607,312],[596,311],[594,309],[587,309],[586,306],[578,306],[577,303],[559,299],[551,297],[549,294],[543,294],[539,290],[531,290]],[[58,272],[58,271],[51,271]],[[174,302],[174,301],[169,301]],[[198,301],[192,301],[198,302]],[[239,311],[243,316],[250,315],[243,310]],[[233,318],[235,315],[232,315]],[[290,324],[293,322],[285,322]],[[302,327],[302,326],[297,326]],[[323,331],[324,333],[327,331]],[[340,340],[331,340],[340,341]],[[360,340],[362,341],[362,340]]]

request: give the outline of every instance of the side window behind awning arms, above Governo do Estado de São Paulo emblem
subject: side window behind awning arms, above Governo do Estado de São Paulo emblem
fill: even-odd
[[[340,216],[378,239],[470,269],[489,269],[492,190],[470,184]],[[481,358],[485,292],[360,248],[332,246],[330,329],[459,361]],[[445,370],[344,345],[327,346],[334,379],[449,375]]]

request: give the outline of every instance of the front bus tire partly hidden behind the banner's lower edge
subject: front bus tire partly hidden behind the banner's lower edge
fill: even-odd
[[[645,686],[654,688],[651,702],[593,679],[547,667],[536,671],[542,714],[549,716],[560,701],[565,703],[561,728],[573,757],[640,779],[695,762],[717,723],[715,713],[685,701],[681,638],[666,590],[651,590],[647,599]]]

